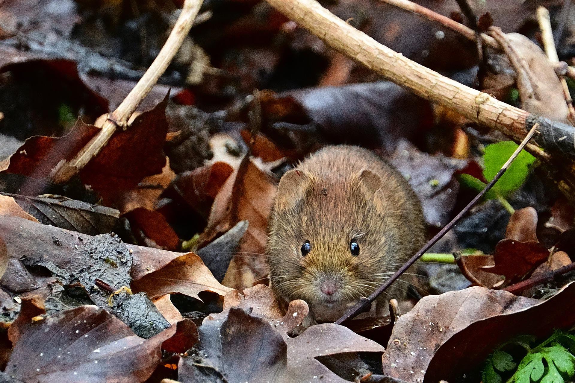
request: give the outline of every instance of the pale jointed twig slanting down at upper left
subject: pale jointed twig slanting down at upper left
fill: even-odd
[[[64,162],[52,172],[51,178],[55,183],[64,183],[71,179],[89,161],[96,156],[108,144],[108,141],[116,132],[118,127],[125,129],[128,125],[128,119],[140,105],[141,100],[148,95],[152,87],[158,82],[158,79],[166,71],[178,49],[181,47],[183,40],[190,32],[194,19],[200,10],[202,0],[185,0],[181,14],[176,21],[166,44],[160,50],[158,57],[154,60],[150,68],[144,73],[144,76],[129,92],[128,96],[122,103],[108,115],[108,119],[102,125],[102,129],[94,136],[82,150],[80,150],[72,160]]]

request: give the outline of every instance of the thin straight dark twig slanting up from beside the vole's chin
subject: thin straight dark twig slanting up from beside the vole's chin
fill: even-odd
[[[485,186],[485,188],[478,195],[476,195],[475,198],[473,200],[471,200],[471,202],[469,204],[467,204],[467,206],[465,208],[463,208],[463,210],[460,211],[459,214],[457,216],[455,216],[454,219],[451,220],[451,222],[449,222],[446,226],[444,226],[443,229],[441,229],[439,231],[439,233],[435,234],[435,237],[431,238],[429,242],[425,243],[425,245],[423,247],[421,247],[419,252],[417,252],[415,254],[415,256],[411,257],[411,259],[409,261],[405,262],[405,264],[403,266],[401,266],[401,268],[399,270],[397,270],[397,272],[395,274],[393,274],[391,277],[389,277],[389,279],[386,280],[384,282],[384,284],[379,286],[377,288],[377,290],[375,290],[369,297],[367,297],[365,299],[361,299],[358,304],[356,304],[356,305],[354,305],[354,307],[350,308],[350,310],[347,311],[346,314],[344,314],[342,316],[342,318],[339,318],[338,320],[336,320],[335,323],[336,324],[342,324],[344,321],[346,321],[348,319],[355,318],[355,316],[361,314],[363,311],[365,311],[367,308],[369,308],[371,306],[371,303],[379,295],[381,295],[381,293],[383,293],[386,288],[388,288],[394,281],[397,280],[397,278],[399,278],[401,276],[401,274],[403,274],[417,260],[419,260],[419,258],[421,256],[423,256],[423,254],[425,254],[425,252],[427,252],[427,250],[429,250],[431,248],[431,246],[435,245],[435,243],[437,241],[439,241],[439,239],[441,239],[443,237],[443,235],[445,235],[447,233],[447,231],[451,230],[455,226],[455,224],[457,222],[459,222],[459,220],[461,218],[463,218],[463,216],[465,216],[467,214],[467,212],[469,210],[471,210],[471,208],[477,204],[477,202],[479,202],[479,200],[482,198],[482,196],[484,196],[485,193],[489,191],[489,189],[497,182],[497,180],[499,180],[500,177],[503,176],[505,171],[507,171],[507,168],[509,167],[509,165],[511,165],[513,160],[515,160],[515,157],[517,157],[517,155],[521,152],[521,150],[523,150],[523,147],[527,144],[527,142],[529,140],[531,140],[531,137],[533,137],[533,135],[537,131],[538,127],[539,127],[538,124],[535,123],[535,125],[531,128],[529,133],[527,133],[527,136],[523,139],[523,141],[521,142],[519,147],[517,147],[515,152],[513,152],[513,154],[511,154],[511,157],[509,157],[507,162],[505,162],[505,164],[503,164],[500,171],[497,172],[497,175],[495,177],[493,177],[493,179]]]

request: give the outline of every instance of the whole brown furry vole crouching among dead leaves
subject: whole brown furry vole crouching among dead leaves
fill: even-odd
[[[315,320],[334,321],[415,254],[423,222],[419,199],[390,164],[358,146],[327,146],[279,181],[266,245],[271,287],[305,300]],[[394,283],[378,311],[406,291]]]

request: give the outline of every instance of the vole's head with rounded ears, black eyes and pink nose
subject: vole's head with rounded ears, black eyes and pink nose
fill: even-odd
[[[287,300],[335,320],[397,269],[399,241],[386,218],[381,178],[364,170],[325,179],[292,170],[281,179],[267,243],[270,278]]]

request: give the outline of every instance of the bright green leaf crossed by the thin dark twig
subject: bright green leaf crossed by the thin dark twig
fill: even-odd
[[[515,152],[517,146],[519,145],[513,141],[502,141],[485,146],[483,156],[485,169],[483,175],[486,180],[490,181],[497,175],[503,164],[505,164],[509,157],[511,157],[511,154]],[[506,198],[519,189],[527,179],[529,165],[534,163],[534,161],[535,157],[531,156],[531,154],[525,150],[522,150],[519,156],[515,158],[515,161],[509,165],[505,174],[494,185],[494,189],[496,189],[497,193]]]

